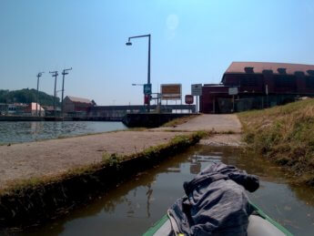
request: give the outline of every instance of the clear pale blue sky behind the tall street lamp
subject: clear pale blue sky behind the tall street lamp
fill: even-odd
[[[48,71],[73,67],[66,95],[142,104],[147,38],[151,82],[218,83],[232,61],[314,64],[312,0],[1,0],[0,88],[53,94]],[[58,77],[57,89],[61,89]],[[59,94],[61,97],[61,94]]]

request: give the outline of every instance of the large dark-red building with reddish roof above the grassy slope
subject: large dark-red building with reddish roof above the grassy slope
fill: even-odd
[[[233,62],[220,84],[205,84],[200,97],[203,113],[230,113],[269,108],[314,97],[314,65]]]

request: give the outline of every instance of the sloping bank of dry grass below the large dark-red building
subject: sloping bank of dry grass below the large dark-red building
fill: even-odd
[[[289,167],[297,183],[314,186],[314,99],[238,114],[251,149]]]

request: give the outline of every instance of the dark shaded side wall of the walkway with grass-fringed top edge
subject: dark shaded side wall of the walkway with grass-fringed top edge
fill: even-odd
[[[101,162],[69,169],[62,175],[16,180],[0,192],[0,234],[1,229],[23,228],[66,214],[106,190],[116,188],[137,172],[196,144],[205,135],[198,132],[177,136],[167,144],[128,156],[104,153]]]

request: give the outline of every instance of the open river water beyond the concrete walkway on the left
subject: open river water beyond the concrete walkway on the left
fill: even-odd
[[[0,144],[58,139],[125,128],[122,122],[106,121],[1,121]]]

